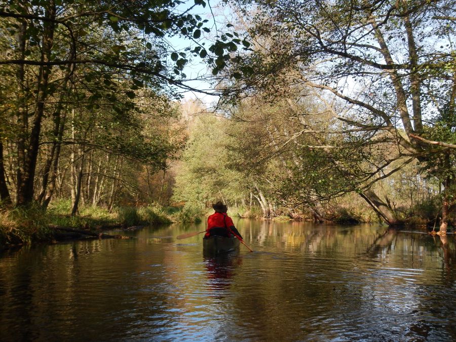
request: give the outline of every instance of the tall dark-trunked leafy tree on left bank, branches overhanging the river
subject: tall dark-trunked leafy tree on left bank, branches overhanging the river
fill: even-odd
[[[15,88],[2,105],[9,105],[9,123],[17,131],[12,146],[17,154],[16,205],[33,201],[43,123],[50,117],[55,141],[48,153],[45,177],[48,170],[55,170],[50,165],[58,160],[57,146],[68,100],[74,101],[73,107],[85,102],[87,109],[96,109],[101,98],[115,102],[116,93],[122,91],[133,99],[135,90],[142,87],[175,96],[174,85],[190,89],[182,73],[190,55],[206,58],[209,63],[217,61],[217,68],[222,67],[225,51],[236,50],[240,42],[225,37],[206,49],[200,37],[202,31],[210,29],[204,26],[207,20],[189,13],[196,6],[205,7],[206,2],[198,0],[186,8],[179,0],[20,0],[0,5],[1,44],[5,47],[0,65]],[[186,37],[196,47],[186,52],[174,51],[166,41],[167,36],[173,35]],[[113,80],[119,79],[126,80],[130,89],[118,89],[118,82]],[[97,87],[93,87],[94,82]],[[92,84],[90,89],[87,83]],[[113,109],[122,110],[121,107],[114,105]],[[0,134],[3,143],[4,130]],[[0,189],[2,198],[7,198],[2,165],[3,156]],[[43,196],[40,194],[40,198]]]

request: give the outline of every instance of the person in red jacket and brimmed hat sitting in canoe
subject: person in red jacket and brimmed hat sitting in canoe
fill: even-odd
[[[204,238],[207,239],[214,235],[231,238],[235,235],[238,239],[243,240],[242,235],[236,229],[233,220],[226,214],[228,207],[218,201],[212,205],[212,208],[214,208],[215,213],[207,218],[207,229]]]

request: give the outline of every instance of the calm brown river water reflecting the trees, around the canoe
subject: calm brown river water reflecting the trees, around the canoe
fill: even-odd
[[[453,235],[235,223],[253,253],[175,239],[204,223],[4,252],[0,340],[456,340]]]

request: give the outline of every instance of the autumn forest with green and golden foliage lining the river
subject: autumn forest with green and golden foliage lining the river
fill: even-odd
[[[0,245],[194,221],[217,200],[240,217],[446,234],[455,12],[452,0],[2,0]]]

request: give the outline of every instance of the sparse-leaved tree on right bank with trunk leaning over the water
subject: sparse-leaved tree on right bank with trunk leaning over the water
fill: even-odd
[[[233,60],[227,93],[261,91],[274,98],[286,85],[301,85],[328,110],[345,109],[334,110],[340,124],[328,133],[396,146],[386,163],[370,170],[369,181],[358,182],[360,193],[390,224],[398,223],[369,184],[385,177],[392,161],[417,159],[445,188],[444,233],[456,177],[454,120],[445,119],[454,118],[456,98],[452,5],[446,0],[255,2],[248,33],[256,49]],[[243,74],[241,81],[232,82],[234,72]]]

